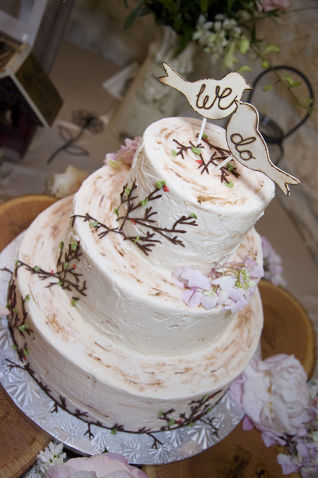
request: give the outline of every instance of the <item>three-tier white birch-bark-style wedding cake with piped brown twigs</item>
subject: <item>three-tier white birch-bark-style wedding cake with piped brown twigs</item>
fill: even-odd
[[[249,268],[262,264],[254,224],[274,186],[234,160],[218,168],[225,131],[208,124],[198,144],[199,129],[153,123],[131,169],[103,166],[20,245],[9,290],[18,353],[56,406],[89,423],[189,425],[259,344]]]

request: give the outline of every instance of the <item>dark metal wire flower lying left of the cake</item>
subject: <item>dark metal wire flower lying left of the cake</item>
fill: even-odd
[[[62,140],[65,141],[65,143],[62,144],[62,146],[60,146],[56,151],[54,151],[54,153],[51,154],[51,156],[47,160],[47,164],[51,164],[53,159],[57,157],[57,154],[59,154],[61,151],[66,151],[73,156],[88,156],[89,153],[87,149],[74,143],[81,138],[83,132],[85,132],[86,130],[90,131],[91,133],[93,133],[93,135],[95,135],[99,132],[102,132],[104,127],[102,120],[98,118],[98,115],[96,113],[83,109],[73,111],[72,120],[73,123],[75,123],[81,129],[76,135],[73,135],[73,133],[67,127],[62,125],[58,126],[59,135],[61,136]]]

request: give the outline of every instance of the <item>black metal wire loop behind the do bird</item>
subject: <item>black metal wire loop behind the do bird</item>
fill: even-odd
[[[248,103],[253,103],[252,98],[254,96],[254,93],[257,93],[257,86],[259,86],[259,82],[261,79],[264,79],[265,76],[269,76],[269,74],[273,73],[273,70],[283,70],[285,72],[292,72],[298,78],[300,79],[301,83],[305,85],[307,89],[308,96],[305,98],[303,101],[307,101],[308,107],[302,108],[304,110],[305,115],[296,123],[293,127],[290,127],[290,129],[287,132],[283,131],[283,128],[276,123],[272,118],[270,118],[268,115],[264,115],[263,113],[259,112],[259,130],[261,132],[261,135],[264,137],[264,140],[266,141],[267,145],[269,148],[275,146],[276,147],[276,157],[271,156],[271,160],[273,163],[277,164],[278,161],[280,161],[283,157],[283,141],[292,135],[300,126],[302,126],[305,121],[310,117],[312,108],[314,106],[314,92],[312,91],[312,86],[310,84],[310,81],[307,79],[307,77],[302,74],[298,69],[295,69],[293,67],[287,67],[284,65],[278,66],[278,67],[273,67],[271,69],[266,69],[264,72],[261,72],[259,76],[254,80],[254,84],[252,84],[253,89],[249,92],[249,96],[247,98]],[[266,93],[268,94],[268,93]],[[274,108],[273,108],[274,110]]]

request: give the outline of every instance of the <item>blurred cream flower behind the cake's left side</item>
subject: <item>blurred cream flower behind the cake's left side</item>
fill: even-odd
[[[56,173],[47,181],[47,194],[55,198],[66,198],[81,187],[84,179],[88,177],[88,171],[78,169],[76,166],[67,166],[64,173]]]

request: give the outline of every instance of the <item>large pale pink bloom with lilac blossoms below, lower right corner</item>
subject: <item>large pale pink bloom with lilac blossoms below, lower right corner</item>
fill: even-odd
[[[294,355],[255,356],[230,391],[245,411],[243,429],[257,428],[266,446],[286,447],[277,457],[283,474],[318,471],[318,384],[308,387]]]

